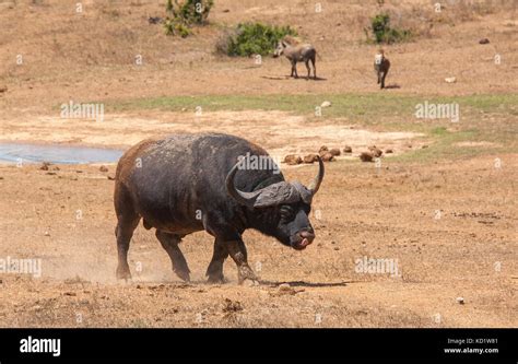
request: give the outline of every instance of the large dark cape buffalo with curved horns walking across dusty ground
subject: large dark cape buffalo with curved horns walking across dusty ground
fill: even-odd
[[[138,143],[117,166],[117,278],[131,278],[128,249],[142,219],[145,228],[156,228],[180,279],[189,281],[190,271],[178,244],[204,230],[215,238],[209,282],[224,281],[228,255],[237,265],[239,283],[256,281],[243,232],[255,228],[297,250],[311,244],[315,233],[308,215],[323,178],[323,163],[318,162],[319,172],[306,188],[285,181],[262,148],[237,137],[179,133]]]

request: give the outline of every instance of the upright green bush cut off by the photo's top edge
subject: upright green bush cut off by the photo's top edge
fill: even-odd
[[[164,22],[166,35],[179,35],[183,38],[192,33],[192,25],[203,25],[214,5],[214,0],[167,0],[167,17]]]

